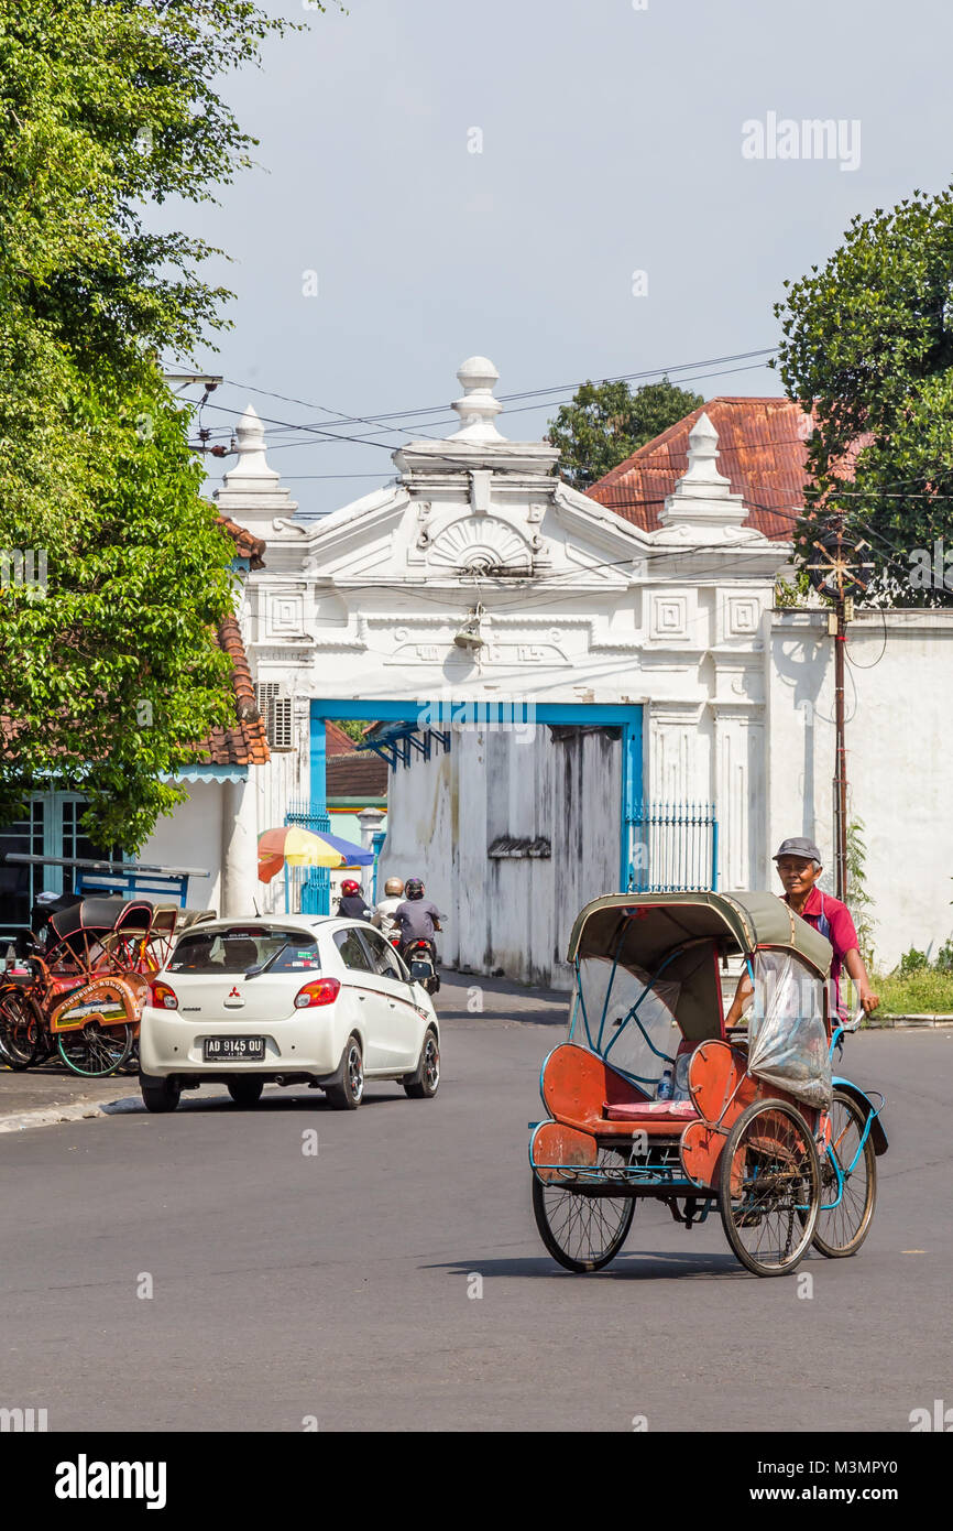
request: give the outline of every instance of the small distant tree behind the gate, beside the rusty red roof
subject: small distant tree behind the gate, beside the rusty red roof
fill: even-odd
[[[627,383],[583,383],[549,421],[549,441],[560,449],[560,472],[586,490],[610,468],[704,404],[701,393],[668,378],[630,389]]]

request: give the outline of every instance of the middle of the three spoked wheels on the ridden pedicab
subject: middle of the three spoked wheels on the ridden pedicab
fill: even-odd
[[[786,1101],[754,1101],[719,1159],[728,1243],[754,1275],[785,1275],[803,1260],[820,1208],[814,1133]]]

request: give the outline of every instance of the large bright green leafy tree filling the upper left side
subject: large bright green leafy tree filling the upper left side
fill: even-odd
[[[217,251],[147,217],[251,164],[217,81],[288,24],[0,0],[0,822],[70,787],[90,837],[136,850],[184,798],[162,776],[234,715],[234,548],[158,360],[193,363],[229,294],[197,274]]]

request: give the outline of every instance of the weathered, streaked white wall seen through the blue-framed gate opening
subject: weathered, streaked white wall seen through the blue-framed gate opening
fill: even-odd
[[[618,739],[465,729],[448,755],[392,770],[379,876],[424,879],[448,914],[448,966],[569,987],[572,922],[618,886],[620,813]],[[488,857],[500,836],[548,839],[552,854]]]

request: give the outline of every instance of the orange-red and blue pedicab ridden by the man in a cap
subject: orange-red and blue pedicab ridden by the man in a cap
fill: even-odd
[[[722,971],[754,987],[727,1027]],[[832,1075],[849,1024],[828,998],[831,943],[769,893],[615,894],[578,916],[569,1035],[546,1058],[549,1118],[531,1124],[532,1208],[549,1254],[598,1271],[636,1202],[685,1228],[717,1208],[756,1275],[811,1245],[855,1254],[887,1148],[883,1096]]]

